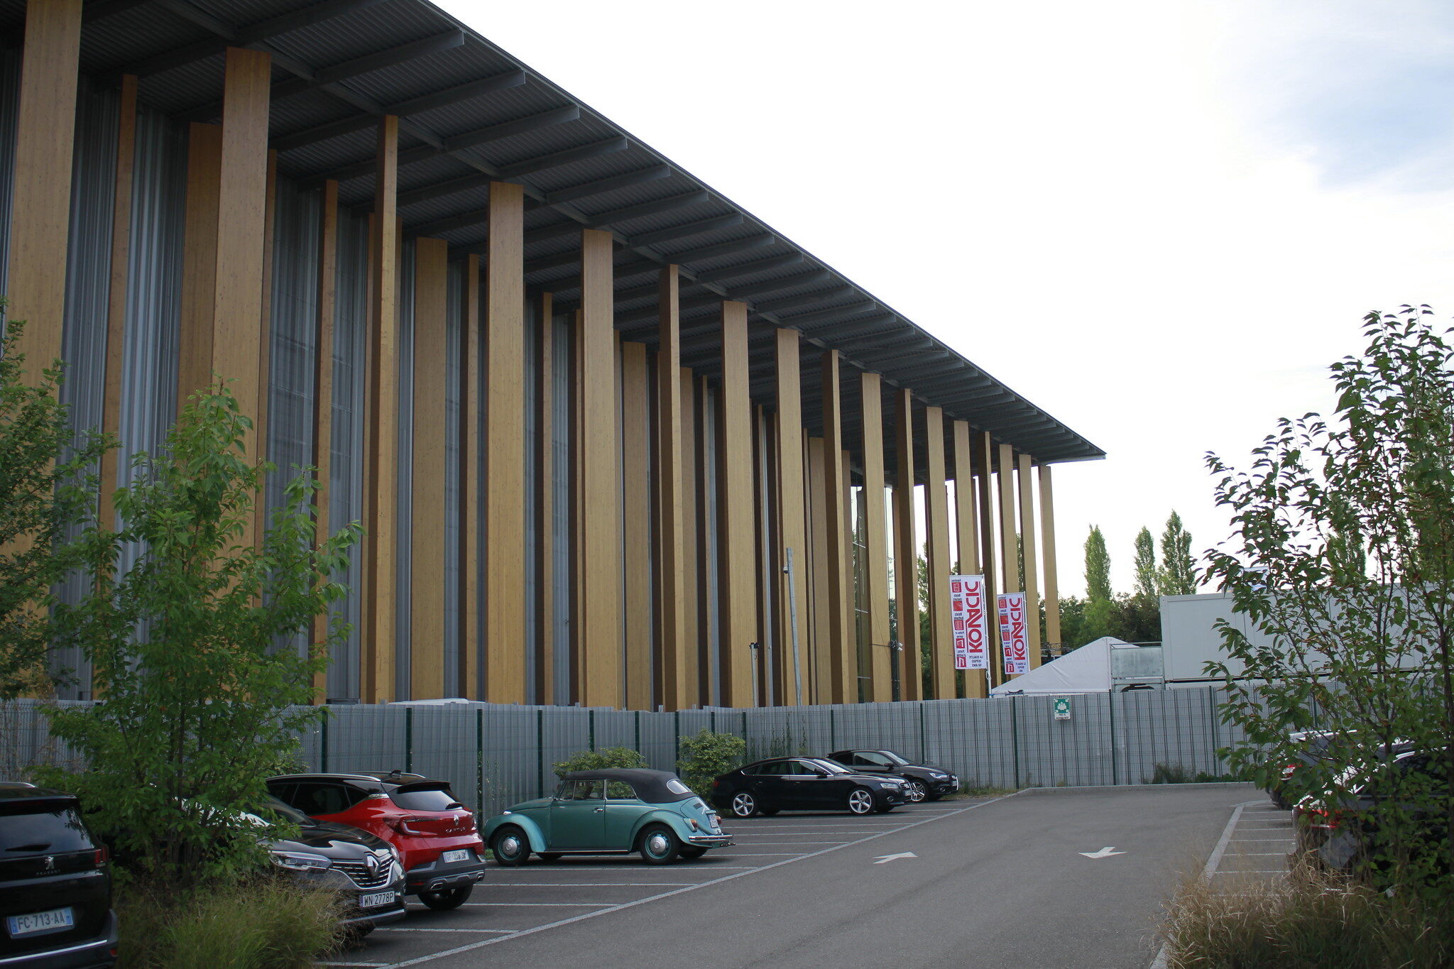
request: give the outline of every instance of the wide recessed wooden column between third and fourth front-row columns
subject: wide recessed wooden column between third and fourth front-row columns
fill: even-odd
[[[414,459],[409,699],[445,694],[445,386],[449,244],[414,240]]]

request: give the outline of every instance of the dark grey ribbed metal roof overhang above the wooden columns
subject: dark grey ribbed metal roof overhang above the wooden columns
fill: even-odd
[[[25,0],[0,0],[17,45]],[[752,394],[772,405],[772,327],[792,327],[845,369],[845,440],[859,408],[851,368],[1041,462],[1105,452],[897,314],[832,266],[714,192],[630,132],[425,0],[89,0],[81,70],[100,84],[137,74],[141,100],[177,121],[215,121],[227,46],[273,58],[270,138],[279,170],[340,182],[372,205],[374,126],[400,116],[398,211],[407,235],[481,251],[491,180],[525,186],[526,285],[579,299],[577,230],[616,248],[616,328],[656,341],[654,273],[682,267],[683,366],[715,376],[717,304],[750,308]],[[822,433],[819,360],[804,354],[804,417]],[[888,410],[887,414],[893,411]],[[887,434],[893,439],[893,420]],[[923,434],[922,420],[916,436]],[[922,453],[922,447],[920,447]],[[888,463],[893,465],[890,450]]]

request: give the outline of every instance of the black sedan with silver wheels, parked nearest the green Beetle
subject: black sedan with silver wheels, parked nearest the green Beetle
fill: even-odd
[[[899,777],[859,774],[817,757],[775,757],[712,782],[712,806],[737,818],[779,811],[893,811],[907,800]]]

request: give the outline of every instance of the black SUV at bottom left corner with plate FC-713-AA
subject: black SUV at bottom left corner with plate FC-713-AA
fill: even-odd
[[[0,782],[0,969],[116,963],[106,859],[74,795]]]

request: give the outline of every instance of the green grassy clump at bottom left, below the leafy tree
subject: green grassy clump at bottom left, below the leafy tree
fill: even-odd
[[[343,941],[334,892],[285,879],[116,892],[119,969],[302,969]]]

